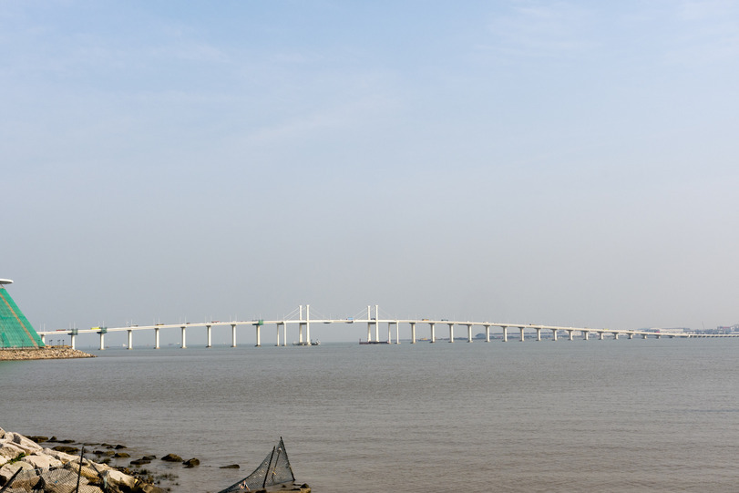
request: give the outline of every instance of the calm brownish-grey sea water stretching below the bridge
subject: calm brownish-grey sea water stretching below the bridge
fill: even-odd
[[[94,353],[0,362],[0,427],[199,457],[182,492],[281,436],[317,493],[739,488],[736,339]]]

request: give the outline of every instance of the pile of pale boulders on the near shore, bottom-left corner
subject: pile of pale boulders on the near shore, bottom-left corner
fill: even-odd
[[[30,438],[0,428],[0,488],[5,486],[13,493],[60,493],[77,488],[85,493],[164,492],[114,467],[41,447]]]

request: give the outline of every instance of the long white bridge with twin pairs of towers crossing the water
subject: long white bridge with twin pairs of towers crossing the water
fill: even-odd
[[[304,308],[304,310],[303,310]],[[251,321],[236,321],[231,322],[202,322],[202,323],[185,323],[185,324],[153,324],[153,325],[128,325],[125,327],[91,327],[89,329],[69,329],[69,330],[57,330],[57,331],[42,331],[38,332],[41,336],[41,340],[46,343],[46,336],[69,334],[71,336],[71,346],[74,349],[76,344],[76,337],[78,334],[99,334],[100,336],[100,350],[105,349],[105,335],[115,332],[128,332],[128,349],[133,349],[133,333],[139,331],[153,331],[154,332],[154,348],[159,349],[159,331],[161,330],[177,330],[180,329],[180,347],[187,348],[187,330],[195,329],[197,327],[205,328],[208,343],[206,347],[212,347],[212,329],[213,327],[231,327],[231,347],[236,347],[236,328],[241,326],[252,326],[256,332],[256,346],[262,345],[262,328],[267,325],[274,325],[276,329],[276,340],[275,345],[287,345],[287,327],[288,325],[297,326],[298,330],[298,341],[293,343],[294,345],[313,345],[311,339],[311,324],[366,324],[367,325],[367,339],[363,342],[360,340],[360,344],[400,344],[400,325],[405,324],[410,327],[410,342],[416,344],[418,338],[416,337],[416,325],[426,326],[429,330],[429,337],[422,339],[430,343],[436,343],[438,340],[436,337],[436,326],[448,328],[448,341],[450,343],[455,342],[454,331],[455,327],[466,327],[467,328],[467,342],[473,342],[472,331],[473,327],[485,329],[485,342],[490,342],[490,330],[498,329],[501,332],[500,339],[503,342],[508,342],[508,330],[518,330],[519,336],[518,341],[524,342],[526,340],[526,332],[535,334],[537,341],[542,340],[542,332],[545,334],[550,333],[551,339],[557,341],[560,333],[566,334],[565,337],[572,341],[576,334],[580,334],[580,337],[584,340],[589,340],[590,336],[597,337],[599,340],[603,340],[606,335],[613,339],[618,339],[620,336],[633,339],[634,337],[641,337],[646,339],[647,337],[653,337],[660,339],[662,336],[670,338],[696,338],[696,337],[739,337],[739,334],[682,334],[682,333],[660,333],[656,331],[645,331],[645,330],[624,330],[624,329],[593,329],[590,327],[564,327],[558,325],[537,325],[537,324],[511,324],[511,323],[497,323],[497,322],[470,322],[470,321],[459,321],[459,320],[432,320],[432,319],[395,319],[395,318],[381,318],[379,306],[375,305],[375,316],[372,316],[372,307],[367,306],[366,318],[311,318],[310,305],[301,305],[297,310],[293,311],[287,317],[277,320],[251,320]],[[297,316],[297,318],[290,318],[291,316]],[[380,339],[380,327],[381,325],[387,325],[387,338]],[[281,338],[282,329],[282,338]],[[395,329],[395,343],[393,343],[393,333]],[[281,344],[282,340],[282,344]]]

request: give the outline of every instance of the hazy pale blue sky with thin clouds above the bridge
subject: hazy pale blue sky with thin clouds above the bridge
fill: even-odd
[[[738,76],[729,1],[5,0],[0,277],[37,330],[736,324]]]

